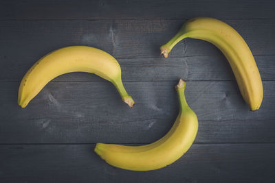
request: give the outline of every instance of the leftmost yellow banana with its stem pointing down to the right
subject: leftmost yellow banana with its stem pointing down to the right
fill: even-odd
[[[109,53],[85,46],[57,49],[43,56],[25,74],[19,86],[18,104],[22,108],[58,75],[72,72],[95,73],[117,88],[122,100],[131,108],[134,101],[121,80],[120,64]]]

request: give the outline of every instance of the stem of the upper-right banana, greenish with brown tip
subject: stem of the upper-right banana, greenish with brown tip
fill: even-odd
[[[187,35],[184,34],[184,31],[179,30],[179,32],[173,38],[171,38],[165,45],[162,45],[162,47],[160,47],[160,52],[164,58],[168,58],[168,54],[170,53],[171,49],[173,49],[177,42],[183,40],[186,37]]]

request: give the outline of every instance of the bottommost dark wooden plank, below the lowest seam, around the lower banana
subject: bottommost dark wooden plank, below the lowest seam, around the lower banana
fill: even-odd
[[[94,147],[0,145],[0,182],[274,181],[274,144],[194,144],[168,167],[147,172],[111,167]]]

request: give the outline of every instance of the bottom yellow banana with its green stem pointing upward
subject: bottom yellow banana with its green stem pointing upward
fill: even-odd
[[[94,149],[96,154],[114,167],[132,171],[160,169],[184,155],[195,140],[198,120],[185,99],[186,82],[179,80],[175,88],[180,110],[173,127],[164,137],[141,146],[97,143]]]

